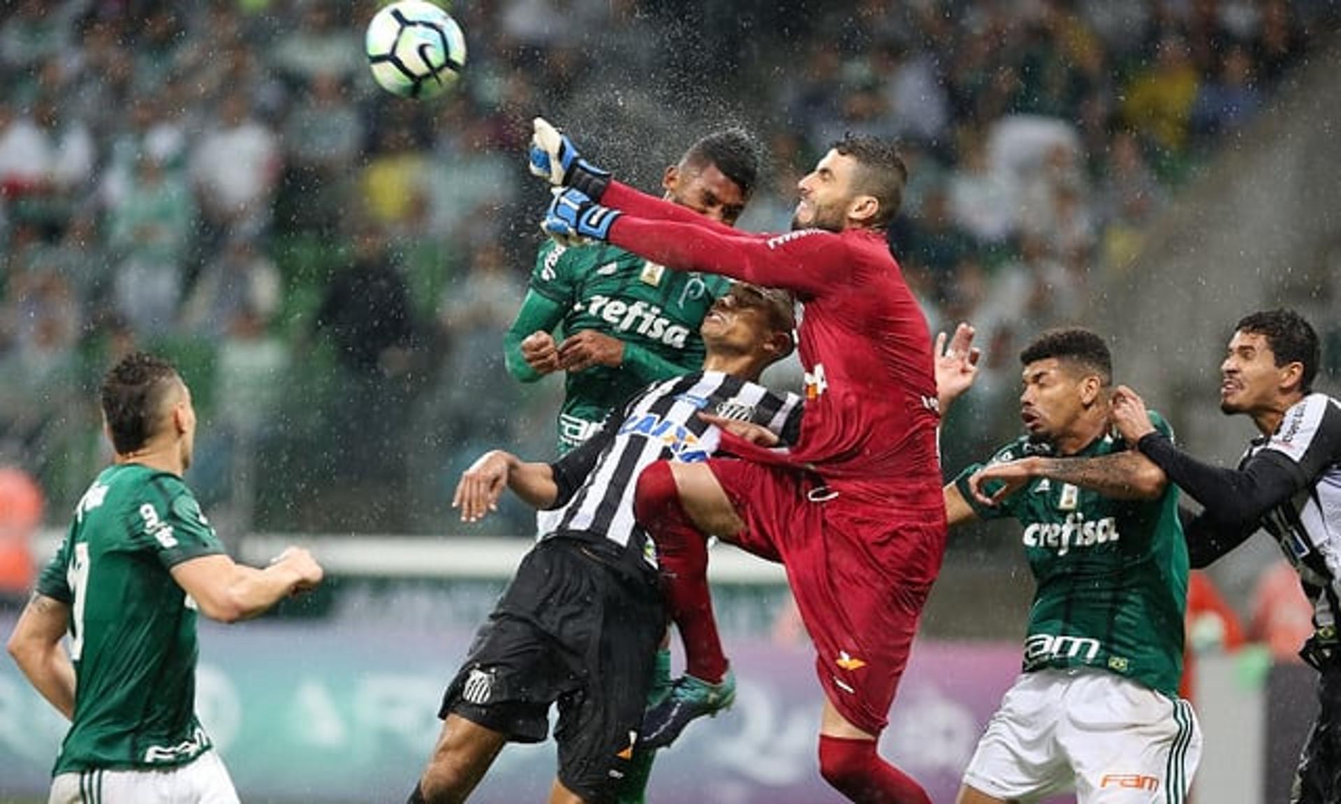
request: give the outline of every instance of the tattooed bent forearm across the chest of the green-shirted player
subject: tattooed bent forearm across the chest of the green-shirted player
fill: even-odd
[[[1136,452],[1096,458],[1043,458],[1031,456],[1019,461],[984,466],[968,480],[974,497],[984,505],[996,505],[1035,477],[1047,477],[1096,490],[1114,500],[1153,500],[1164,493],[1168,478],[1164,470]],[[988,481],[1002,485],[994,493],[984,490]]]

